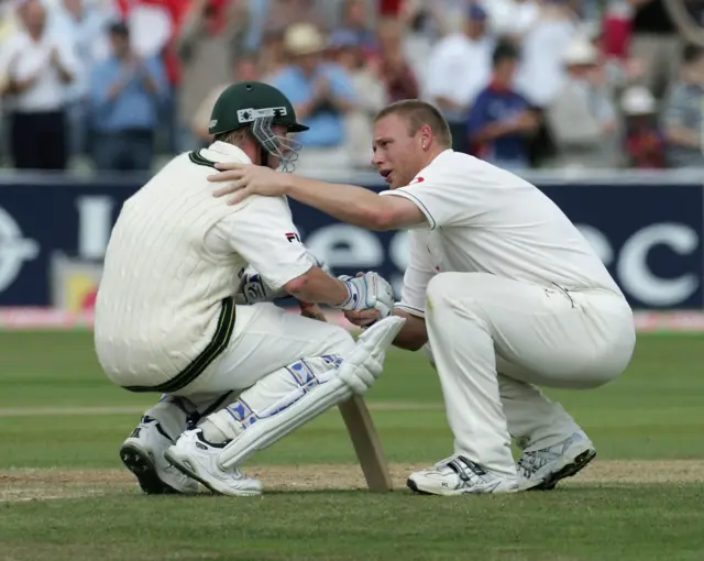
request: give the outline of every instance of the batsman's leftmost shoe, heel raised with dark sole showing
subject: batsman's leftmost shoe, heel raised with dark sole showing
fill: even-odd
[[[156,419],[144,416],[120,448],[122,463],[147,495],[198,492],[196,481],[166,461],[164,453],[173,442]]]

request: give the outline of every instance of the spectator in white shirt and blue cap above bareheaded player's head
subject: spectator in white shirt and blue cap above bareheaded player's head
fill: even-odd
[[[452,132],[452,147],[466,152],[466,116],[492,73],[494,40],[487,35],[486,12],[470,7],[464,30],[440,40],[428,59],[426,95],[440,109]]]

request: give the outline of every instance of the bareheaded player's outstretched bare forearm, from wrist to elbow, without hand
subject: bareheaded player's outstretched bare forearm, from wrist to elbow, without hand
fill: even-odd
[[[376,211],[384,204],[384,197],[363,187],[330,184],[297,175],[290,176],[287,195],[338,220],[370,229],[377,227]]]

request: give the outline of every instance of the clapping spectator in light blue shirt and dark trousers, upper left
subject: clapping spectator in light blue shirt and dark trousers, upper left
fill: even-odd
[[[124,23],[110,26],[112,56],[90,76],[94,157],[98,169],[144,170],[152,164],[158,106],[166,90],[160,57],[140,58]]]

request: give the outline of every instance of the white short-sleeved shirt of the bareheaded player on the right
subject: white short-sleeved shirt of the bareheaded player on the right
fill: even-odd
[[[410,230],[410,260],[398,307],[425,314],[438,273],[491,273],[568,290],[623,294],[586,239],[537,187],[468,154],[446,150],[413,182],[383,196],[405,197],[427,222]]]

